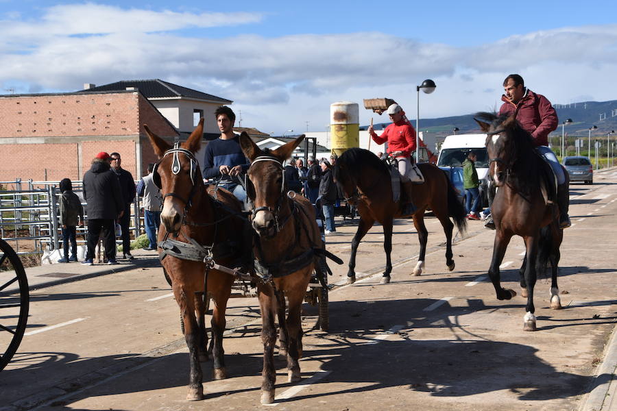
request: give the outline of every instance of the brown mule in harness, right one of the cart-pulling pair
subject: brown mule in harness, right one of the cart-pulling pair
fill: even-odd
[[[263,341],[263,383],[261,403],[274,402],[276,369],[275,316],[280,326],[281,353],[286,353],[289,382],[300,381],[302,356],[302,323],[300,307],[315,269],[315,249],[323,249],[311,202],[285,190],[282,162],[291,156],[304,135],[276,150],[262,151],[243,133],[240,144],[252,161],[247,171],[247,195],[253,201],[252,226],[255,271],[258,282]],[[289,314],[285,319],[285,299]]]

